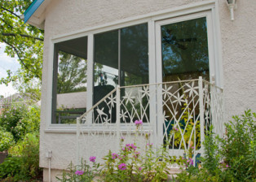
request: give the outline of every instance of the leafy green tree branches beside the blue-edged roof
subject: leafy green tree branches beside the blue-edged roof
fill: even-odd
[[[0,42],[7,45],[5,52],[10,57],[17,56],[20,70],[25,81],[33,78],[42,79],[43,31],[29,24],[24,24],[20,15],[33,0],[0,1]],[[10,70],[7,77],[0,79],[0,84],[15,81],[17,76]]]

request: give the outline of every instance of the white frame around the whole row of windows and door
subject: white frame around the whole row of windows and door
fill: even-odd
[[[223,86],[223,69],[222,69],[222,56],[221,56],[221,37],[218,21],[218,1],[210,0],[203,2],[195,2],[185,6],[179,6],[164,11],[152,12],[146,15],[139,15],[130,17],[124,20],[118,20],[112,23],[103,24],[100,26],[85,28],[77,32],[70,32],[60,36],[51,37],[49,40],[49,54],[48,54],[48,67],[47,67],[47,89],[46,92],[46,129],[44,132],[71,132],[75,133],[77,130],[76,124],[51,124],[51,98],[52,98],[52,80],[53,80],[53,65],[54,65],[54,45],[60,41],[68,41],[78,37],[87,37],[87,85],[93,85],[93,55],[94,55],[94,34],[99,32],[107,32],[118,28],[126,28],[134,26],[136,24],[148,23],[148,72],[149,83],[157,83],[157,70],[156,70],[156,24],[157,21],[172,19],[174,17],[193,15],[194,13],[200,13],[208,11],[211,14],[212,30],[208,33],[208,36],[213,38],[214,43],[214,67],[215,67],[215,81],[218,86]],[[92,86],[87,87],[86,108],[92,106]],[[153,100],[153,99],[152,99]],[[156,108],[153,104],[150,107],[150,118],[152,120],[152,126],[157,132],[157,123],[153,122],[157,120]],[[156,118],[156,119],[154,119]]]

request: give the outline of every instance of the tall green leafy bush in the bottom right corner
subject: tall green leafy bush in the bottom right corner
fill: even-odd
[[[178,174],[179,181],[255,181],[256,114],[250,110],[225,124],[223,138],[214,137],[212,128],[205,137],[202,167]],[[201,165],[200,165],[201,166]]]

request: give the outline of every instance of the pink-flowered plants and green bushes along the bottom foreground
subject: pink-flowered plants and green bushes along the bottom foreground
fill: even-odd
[[[135,121],[136,132],[142,127],[141,120]],[[187,151],[187,158],[175,158],[168,154],[166,147],[153,149],[146,135],[144,154],[139,153],[136,143],[125,144],[121,138],[118,152],[108,151],[99,165],[96,156],[89,163],[82,160],[81,165],[72,163],[59,181],[167,181],[169,166],[178,163],[182,172],[174,181],[256,181],[256,114],[245,111],[244,115],[234,116],[225,124],[223,137],[216,136],[213,127],[205,133],[204,157],[194,165],[193,147]],[[135,134],[136,138],[136,134]]]

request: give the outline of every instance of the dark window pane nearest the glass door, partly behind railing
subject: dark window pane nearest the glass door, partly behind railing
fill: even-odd
[[[121,86],[148,84],[148,24],[121,28]],[[121,122],[149,122],[148,98],[143,87],[121,89]],[[128,97],[132,101],[127,102]]]

